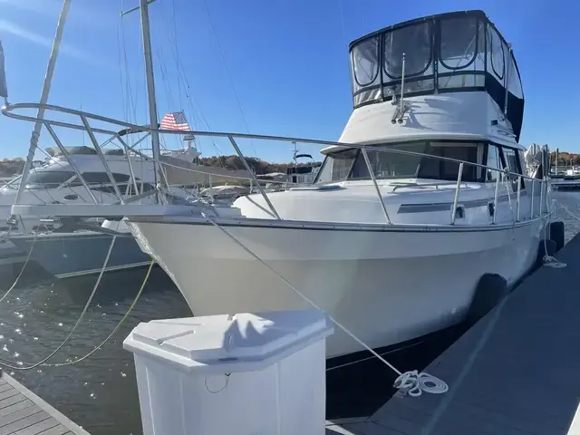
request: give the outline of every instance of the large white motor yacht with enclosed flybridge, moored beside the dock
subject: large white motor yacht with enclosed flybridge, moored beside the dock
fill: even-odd
[[[146,28],[145,0],[140,10]],[[147,32],[144,43],[156,125]],[[338,141],[188,132],[227,138],[240,154],[237,140],[247,138],[325,145],[314,184],[266,192],[256,183],[257,193],[227,207],[102,208],[127,218],[194,314],[316,304],[381,348],[459,323],[482,276],[513,285],[535,264],[553,204],[546,178],[525,172],[522,83],[488,16],[393,24],[349,53],[353,113]],[[27,119],[15,113],[25,107],[3,112]],[[155,150],[160,131],[149,131]],[[96,208],[44,210],[86,216]],[[361,350],[345,333],[327,341],[328,358]]]

